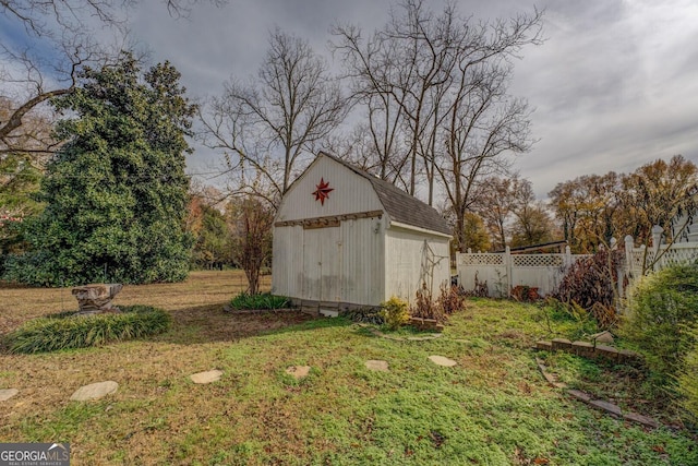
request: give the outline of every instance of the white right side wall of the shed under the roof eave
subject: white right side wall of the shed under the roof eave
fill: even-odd
[[[386,232],[385,243],[384,299],[397,296],[413,303],[414,294],[428,276],[423,264],[429,264],[431,261],[435,263],[433,282],[428,283],[428,286],[431,286],[432,296],[437,297],[440,286],[450,280],[447,238],[425,236],[406,228],[392,227]]]

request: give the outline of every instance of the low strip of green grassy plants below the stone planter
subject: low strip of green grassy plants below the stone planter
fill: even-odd
[[[61,312],[35,319],[8,334],[3,343],[10,353],[23,354],[85,348],[163,333],[171,323],[167,312],[148,306],[124,306],[121,310],[86,316]]]

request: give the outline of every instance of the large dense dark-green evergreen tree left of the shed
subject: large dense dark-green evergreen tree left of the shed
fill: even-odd
[[[184,139],[195,106],[168,62],[141,77],[118,64],[86,69],[85,84],[55,100],[67,141],[41,182],[44,213],[26,223],[29,252],[5,277],[32,285],[177,282],[186,277],[189,178]]]

